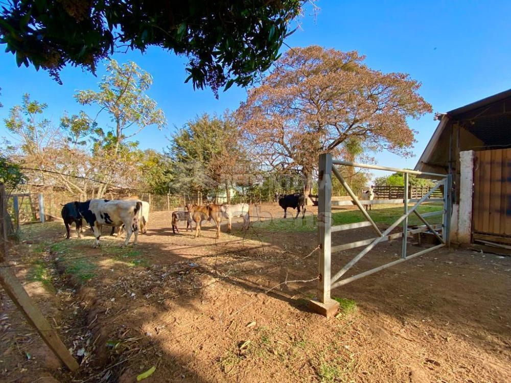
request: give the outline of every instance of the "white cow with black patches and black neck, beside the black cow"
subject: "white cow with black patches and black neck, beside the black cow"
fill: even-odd
[[[94,247],[99,246],[99,237],[101,228],[106,226],[122,226],[126,228],[126,240],[124,245],[127,246],[131,234],[135,234],[133,245],[138,241],[138,217],[142,208],[141,201],[123,201],[123,200],[90,200],[85,202],[75,202],[75,206],[85,221],[92,227],[96,241]]]

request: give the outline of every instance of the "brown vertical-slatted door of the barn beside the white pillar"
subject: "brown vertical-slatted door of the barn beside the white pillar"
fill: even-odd
[[[511,243],[511,149],[474,154],[473,237]]]

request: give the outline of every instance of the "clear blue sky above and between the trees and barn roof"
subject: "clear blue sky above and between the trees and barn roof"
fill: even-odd
[[[290,36],[290,46],[311,44],[342,51],[357,50],[366,63],[384,72],[400,71],[422,82],[420,94],[435,112],[445,112],[494,93],[511,88],[511,2],[345,2],[320,0],[316,17],[309,11],[299,21],[301,29]],[[285,47],[284,47],[285,49]],[[3,51],[3,50],[2,50]],[[173,53],[151,49],[146,54],[114,56],[120,62],[135,61],[154,78],[149,91],[168,119],[168,128],[150,127],[137,136],[141,147],[161,150],[175,126],[182,126],[197,114],[234,110],[245,99],[246,91],[231,88],[216,100],[209,89],[194,91],[184,84],[186,60]],[[98,77],[79,68],[67,67],[61,73],[64,85],[58,85],[44,71],[18,68],[14,56],[0,54],[0,135],[5,135],[3,119],[25,92],[33,99],[49,104],[48,116],[58,123],[63,111],[76,113],[80,107],[73,94],[78,89],[96,89]],[[96,108],[84,109],[95,113]],[[108,123],[107,115],[100,123]],[[378,153],[381,165],[413,167],[436,127],[433,114],[412,120],[419,131],[415,157],[403,159],[390,153]]]

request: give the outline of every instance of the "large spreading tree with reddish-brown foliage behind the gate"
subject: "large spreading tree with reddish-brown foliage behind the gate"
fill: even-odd
[[[407,118],[431,111],[420,83],[363,61],[357,52],[290,49],[240,106],[249,141],[273,167],[303,173],[306,195],[319,154],[339,156],[356,144],[407,155],[414,142]]]

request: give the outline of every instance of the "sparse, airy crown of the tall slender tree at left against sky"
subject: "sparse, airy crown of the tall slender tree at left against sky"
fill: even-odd
[[[106,135],[102,130],[98,133],[113,143],[117,154],[128,138],[150,125],[161,129],[167,121],[156,102],[145,93],[153,83],[151,75],[132,61],[119,65],[110,60],[106,68],[108,75],[99,83],[99,91],[80,90],[75,98],[82,105],[97,104],[101,107],[98,114],[103,110],[110,114],[115,124],[113,130]],[[136,129],[133,132],[130,128]]]

